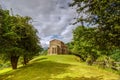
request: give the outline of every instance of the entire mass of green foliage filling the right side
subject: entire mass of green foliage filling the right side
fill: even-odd
[[[70,6],[76,7],[76,23],[82,24],[73,31],[73,52],[88,63],[103,56],[112,57],[105,63],[110,67],[111,60],[120,61],[120,1],[73,0]]]

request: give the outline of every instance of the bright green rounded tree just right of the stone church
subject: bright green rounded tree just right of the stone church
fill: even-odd
[[[73,49],[75,55],[78,55],[83,61],[90,60],[92,64],[99,56],[99,48],[94,43],[96,28],[78,26],[73,31]]]

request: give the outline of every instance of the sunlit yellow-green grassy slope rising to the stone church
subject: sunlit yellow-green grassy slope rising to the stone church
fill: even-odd
[[[0,80],[119,80],[119,75],[87,66],[72,55],[39,56],[17,70],[0,71]]]

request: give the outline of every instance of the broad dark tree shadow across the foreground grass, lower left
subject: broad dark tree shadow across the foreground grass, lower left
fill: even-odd
[[[65,73],[70,64],[53,61],[41,61],[20,67],[10,74],[3,75],[4,80],[49,80],[52,76]],[[5,76],[5,77],[4,77]],[[11,77],[9,77],[11,76]],[[2,80],[1,79],[1,80]]]

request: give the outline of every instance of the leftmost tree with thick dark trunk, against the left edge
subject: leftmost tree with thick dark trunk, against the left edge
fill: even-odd
[[[18,40],[18,35],[11,30],[13,26],[12,17],[9,15],[9,11],[1,10],[1,49],[2,53],[8,53],[7,57],[10,57],[11,64],[13,68],[16,68],[16,64],[18,61],[19,56],[14,52],[18,51],[19,48],[16,47],[16,41]],[[14,47],[13,47],[14,46]],[[14,53],[14,54],[12,54]],[[6,55],[6,54],[5,54]],[[11,55],[11,56],[10,56]],[[17,56],[15,56],[17,55]],[[13,63],[14,62],[14,63]]]

